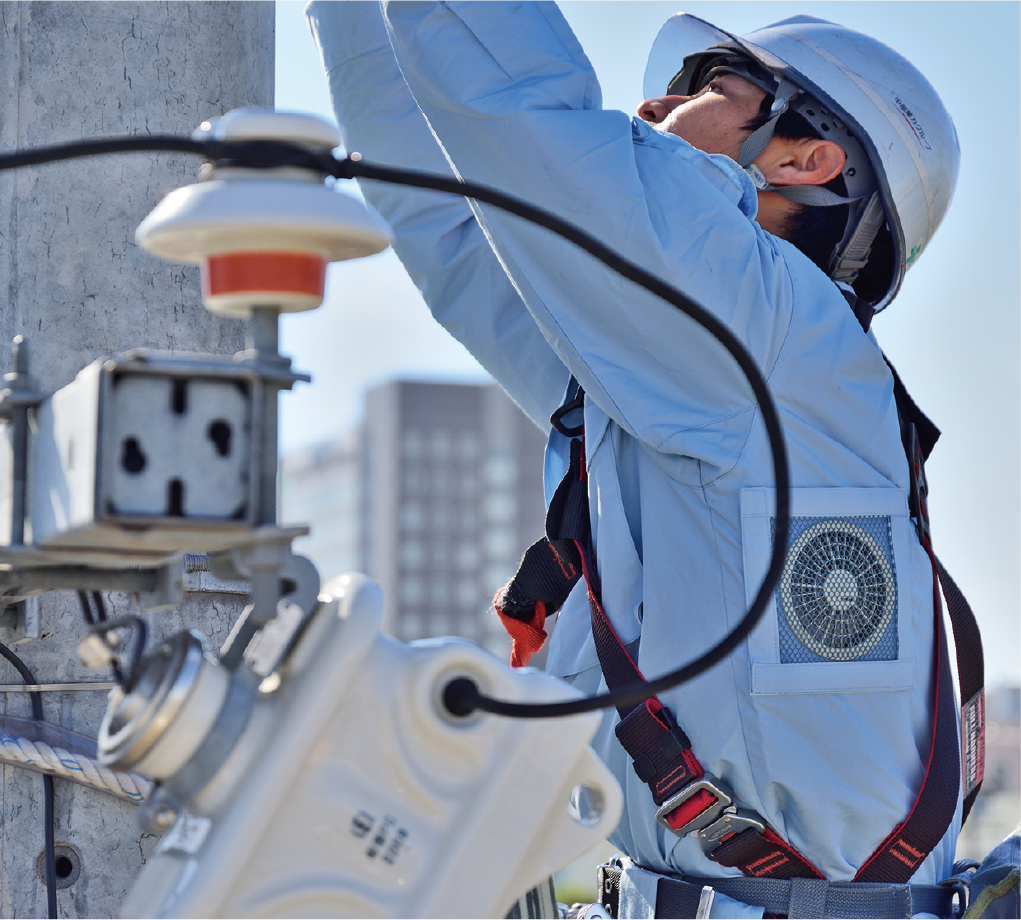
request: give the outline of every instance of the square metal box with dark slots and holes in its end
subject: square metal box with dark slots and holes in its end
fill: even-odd
[[[90,365],[36,410],[31,541],[143,555],[236,543],[257,521],[262,398],[258,374],[231,359]]]

